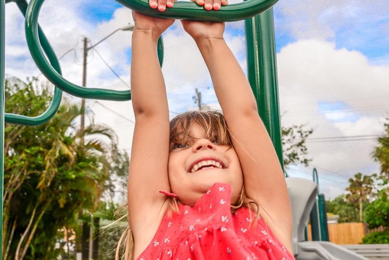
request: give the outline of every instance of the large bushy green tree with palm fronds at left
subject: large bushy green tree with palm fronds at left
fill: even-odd
[[[42,114],[51,99],[50,88],[7,79],[6,112]],[[111,129],[92,122],[81,145],[74,125],[79,115],[76,106],[65,104],[47,124],[5,126],[3,260],[55,259],[57,230],[74,228],[80,212],[95,209],[116,138]]]

